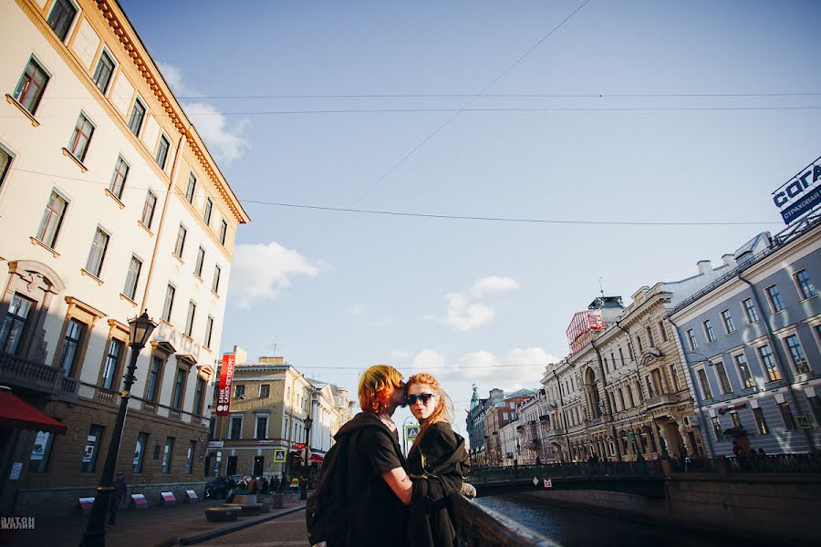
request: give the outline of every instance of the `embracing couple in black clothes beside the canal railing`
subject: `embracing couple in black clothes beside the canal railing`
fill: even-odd
[[[391,418],[405,405],[421,426],[407,460]],[[377,365],[359,380],[359,406],[363,411],[334,436],[348,445],[341,483],[348,522],[345,540],[328,547],[452,547],[452,496],[475,490],[462,483],[468,452],[451,428],[450,397],[430,374],[406,383],[396,368]]]

